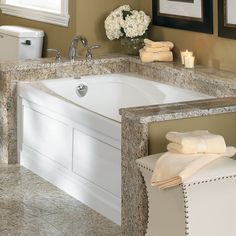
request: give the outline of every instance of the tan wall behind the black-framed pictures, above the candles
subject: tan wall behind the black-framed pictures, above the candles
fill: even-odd
[[[152,0],[140,0],[140,8],[150,15],[151,2]],[[177,55],[180,49],[193,50],[199,64],[236,72],[236,40],[217,36],[217,0],[213,0],[213,4],[214,35],[153,26],[150,37],[155,40],[173,41]]]

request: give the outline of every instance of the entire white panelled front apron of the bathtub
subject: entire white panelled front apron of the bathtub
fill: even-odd
[[[119,140],[18,97],[18,152],[21,165],[120,224]]]

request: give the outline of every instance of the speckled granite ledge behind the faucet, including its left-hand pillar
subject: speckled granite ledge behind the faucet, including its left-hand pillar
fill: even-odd
[[[16,140],[16,83],[57,79],[89,74],[106,74],[129,71],[129,59],[110,56],[95,60],[54,63],[53,59],[0,62],[0,160],[17,162]]]

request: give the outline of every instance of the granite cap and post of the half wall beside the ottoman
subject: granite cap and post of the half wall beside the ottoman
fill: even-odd
[[[144,236],[147,230],[148,197],[136,159],[149,155],[149,124],[232,113],[236,114],[236,97],[120,109],[122,235]]]

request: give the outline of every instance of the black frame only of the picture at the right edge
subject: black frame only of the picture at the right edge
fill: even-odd
[[[227,0],[218,0],[218,35],[236,39],[236,24],[227,23]]]

